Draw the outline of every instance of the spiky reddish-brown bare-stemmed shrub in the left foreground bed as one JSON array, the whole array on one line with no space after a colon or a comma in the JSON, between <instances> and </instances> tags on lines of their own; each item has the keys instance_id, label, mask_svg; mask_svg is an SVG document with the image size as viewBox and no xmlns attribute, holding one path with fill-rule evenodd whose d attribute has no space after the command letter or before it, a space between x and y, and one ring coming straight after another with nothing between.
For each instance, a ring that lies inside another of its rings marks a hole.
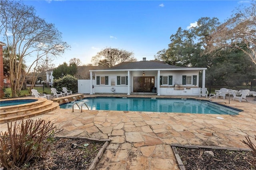
<instances>
[{"instance_id":1,"label":"spiky reddish-brown bare-stemmed shrub in the left foreground bed","mask_svg":"<svg viewBox=\"0 0 256 170\"><path fill-rule=\"evenodd\" d=\"M0 163L6 169L24 168L48 152L54 135L60 133L50 121L28 119L7 124L0 135Z\"/></svg>"}]
</instances>

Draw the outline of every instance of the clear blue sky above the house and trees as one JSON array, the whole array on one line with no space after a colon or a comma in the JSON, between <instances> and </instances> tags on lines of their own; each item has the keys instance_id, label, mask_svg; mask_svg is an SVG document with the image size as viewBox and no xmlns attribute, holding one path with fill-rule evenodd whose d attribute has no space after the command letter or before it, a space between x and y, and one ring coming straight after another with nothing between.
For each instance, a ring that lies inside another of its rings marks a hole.
<instances>
[{"instance_id":1,"label":"clear blue sky above the house and trees","mask_svg":"<svg viewBox=\"0 0 256 170\"><path fill-rule=\"evenodd\" d=\"M167 49L179 27L189 29L202 17L220 22L241 4L238 0L25 0L36 15L53 23L70 49L54 59L55 66L78 58L82 64L106 47L134 53L138 61ZM29 59L27 59L29 63Z\"/></svg>"}]
</instances>

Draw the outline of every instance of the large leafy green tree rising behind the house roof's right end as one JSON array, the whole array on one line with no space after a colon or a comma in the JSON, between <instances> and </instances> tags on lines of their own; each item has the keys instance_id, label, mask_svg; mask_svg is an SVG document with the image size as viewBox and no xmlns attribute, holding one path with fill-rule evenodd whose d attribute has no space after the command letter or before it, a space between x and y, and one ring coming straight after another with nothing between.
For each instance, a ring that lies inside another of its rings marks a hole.
<instances>
[{"instance_id":1,"label":"large leafy green tree rising behind the house roof's right end","mask_svg":"<svg viewBox=\"0 0 256 170\"><path fill-rule=\"evenodd\" d=\"M212 33L219 24L217 18L204 17L197 21L197 26L189 30L179 27L170 36L168 49L158 51L155 58L176 66L209 67L211 57L202 52L212 46Z\"/></svg>"}]
</instances>

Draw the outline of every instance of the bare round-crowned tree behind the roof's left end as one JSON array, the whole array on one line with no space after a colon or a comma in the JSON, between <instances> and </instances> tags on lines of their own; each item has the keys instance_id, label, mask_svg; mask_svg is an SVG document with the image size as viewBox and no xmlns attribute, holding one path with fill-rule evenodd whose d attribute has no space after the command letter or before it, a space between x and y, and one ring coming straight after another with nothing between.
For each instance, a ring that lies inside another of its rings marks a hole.
<instances>
[{"instance_id":1,"label":"bare round-crowned tree behind the roof's left end","mask_svg":"<svg viewBox=\"0 0 256 170\"><path fill-rule=\"evenodd\" d=\"M134 53L123 49L107 47L92 57L92 63L94 65L112 67L122 62L137 61L133 55Z\"/></svg>"}]
</instances>

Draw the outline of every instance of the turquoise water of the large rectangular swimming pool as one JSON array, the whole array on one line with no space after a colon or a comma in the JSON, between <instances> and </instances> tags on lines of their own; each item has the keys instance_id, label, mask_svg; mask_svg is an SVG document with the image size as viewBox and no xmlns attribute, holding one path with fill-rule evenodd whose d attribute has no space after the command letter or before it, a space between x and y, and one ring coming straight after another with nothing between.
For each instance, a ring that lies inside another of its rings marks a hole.
<instances>
[{"instance_id":1,"label":"turquoise water of the large rectangular swimming pool","mask_svg":"<svg viewBox=\"0 0 256 170\"><path fill-rule=\"evenodd\" d=\"M151 98L85 98L77 101L78 106L83 102L90 110L117 111L153 111L174 113L202 113L238 115L242 110L234 109L204 100L194 99L151 99ZM60 108L72 109L73 103L61 105ZM78 109L74 105L74 109ZM87 109L83 105L83 109Z\"/></svg>"}]
</instances>

